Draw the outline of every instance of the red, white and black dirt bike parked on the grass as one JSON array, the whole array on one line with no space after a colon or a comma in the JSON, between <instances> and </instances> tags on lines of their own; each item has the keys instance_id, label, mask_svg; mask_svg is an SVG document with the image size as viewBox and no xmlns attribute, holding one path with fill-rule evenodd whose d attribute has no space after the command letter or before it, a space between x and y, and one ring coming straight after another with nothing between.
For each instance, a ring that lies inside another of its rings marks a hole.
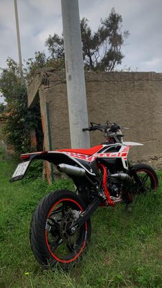
<instances>
[{"instance_id":1,"label":"red, white and black dirt bike parked on the grass","mask_svg":"<svg viewBox=\"0 0 162 288\"><path fill-rule=\"evenodd\" d=\"M56 190L38 204L30 225L32 252L41 265L65 268L76 263L91 237L91 215L99 206L132 202L135 195L156 190L158 177L146 164L132 165L128 159L131 146L123 142L116 123L95 124L83 131L102 131L106 142L89 149L62 149L21 155L11 181L22 179L34 159L44 159L66 173L76 192Z\"/></svg>"}]
</instances>

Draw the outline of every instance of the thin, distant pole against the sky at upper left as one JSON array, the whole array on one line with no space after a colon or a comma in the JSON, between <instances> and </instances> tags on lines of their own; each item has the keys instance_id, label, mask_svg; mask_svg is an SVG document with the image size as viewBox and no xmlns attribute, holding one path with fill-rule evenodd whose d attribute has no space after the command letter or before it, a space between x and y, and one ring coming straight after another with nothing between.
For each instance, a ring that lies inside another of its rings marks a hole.
<instances>
[{"instance_id":1,"label":"thin, distant pole against the sky at upper left","mask_svg":"<svg viewBox=\"0 0 162 288\"><path fill-rule=\"evenodd\" d=\"M22 58L21 58L21 42L20 42L20 32L19 32L19 18L18 18L18 12L17 12L17 0L14 0L14 12L15 12L15 19L16 19L16 34L17 34L17 46L18 46L18 53L19 53L19 68L21 72L21 86L23 86L24 78L23 78Z\"/></svg>"}]
</instances>

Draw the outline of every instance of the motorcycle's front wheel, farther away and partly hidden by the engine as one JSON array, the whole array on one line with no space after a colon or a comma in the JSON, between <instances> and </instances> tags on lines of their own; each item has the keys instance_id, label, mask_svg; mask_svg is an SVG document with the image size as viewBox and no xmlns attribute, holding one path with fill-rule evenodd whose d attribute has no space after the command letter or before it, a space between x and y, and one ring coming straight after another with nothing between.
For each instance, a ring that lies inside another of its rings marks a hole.
<instances>
[{"instance_id":1,"label":"motorcycle's front wheel, farther away and partly hidden by the engine","mask_svg":"<svg viewBox=\"0 0 162 288\"><path fill-rule=\"evenodd\" d=\"M131 177L130 184L126 187L124 200L126 203L132 203L137 195L146 194L152 190L157 190L159 180L157 173L152 167L146 164L137 164L129 173Z\"/></svg>"}]
</instances>

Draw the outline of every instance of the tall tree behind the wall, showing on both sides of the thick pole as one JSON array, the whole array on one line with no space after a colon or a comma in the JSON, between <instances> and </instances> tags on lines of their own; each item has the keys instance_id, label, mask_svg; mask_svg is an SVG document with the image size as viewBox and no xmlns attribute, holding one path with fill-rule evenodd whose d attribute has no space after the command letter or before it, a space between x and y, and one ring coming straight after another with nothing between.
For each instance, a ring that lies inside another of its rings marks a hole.
<instances>
[{"instance_id":1,"label":"tall tree behind the wall, showing on both sides of the thick pole","mask_svg":"<svg viewBox=\"0 0 162 288\"><path fill-rule=\"evenodd\" d=\"M80 21L84 67L87 70L114 71L122 63L122 45L129 32L122 32L122 16L113 8L96 32L91 31L88 19ZM45 41L53 60L65 59L63 38L54 34ZM49 59L48 59L49 60Z\"/></svg>"}]
</instances>

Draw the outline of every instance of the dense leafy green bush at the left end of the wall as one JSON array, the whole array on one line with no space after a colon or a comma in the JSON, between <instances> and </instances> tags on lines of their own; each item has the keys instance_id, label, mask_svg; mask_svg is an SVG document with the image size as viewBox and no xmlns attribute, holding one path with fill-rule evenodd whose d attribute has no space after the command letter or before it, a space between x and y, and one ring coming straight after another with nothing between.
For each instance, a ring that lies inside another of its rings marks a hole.
<instances>
[{"instance_id":1,"label":"dense leafy green bush at the left end of the wall","mask_svg":"<svg viewBox=\"0 0 162 288\"><path fill-rule=\"evenodd\" d=\"M1 93L7 102L3 113L3 134L7 144L13 145L16 151L30 151L30 129L40 126L38 105L27 109L27 89L21 87L19 66L8 58L8 67L1 69Z\"/></svg>"}]
</instances>

